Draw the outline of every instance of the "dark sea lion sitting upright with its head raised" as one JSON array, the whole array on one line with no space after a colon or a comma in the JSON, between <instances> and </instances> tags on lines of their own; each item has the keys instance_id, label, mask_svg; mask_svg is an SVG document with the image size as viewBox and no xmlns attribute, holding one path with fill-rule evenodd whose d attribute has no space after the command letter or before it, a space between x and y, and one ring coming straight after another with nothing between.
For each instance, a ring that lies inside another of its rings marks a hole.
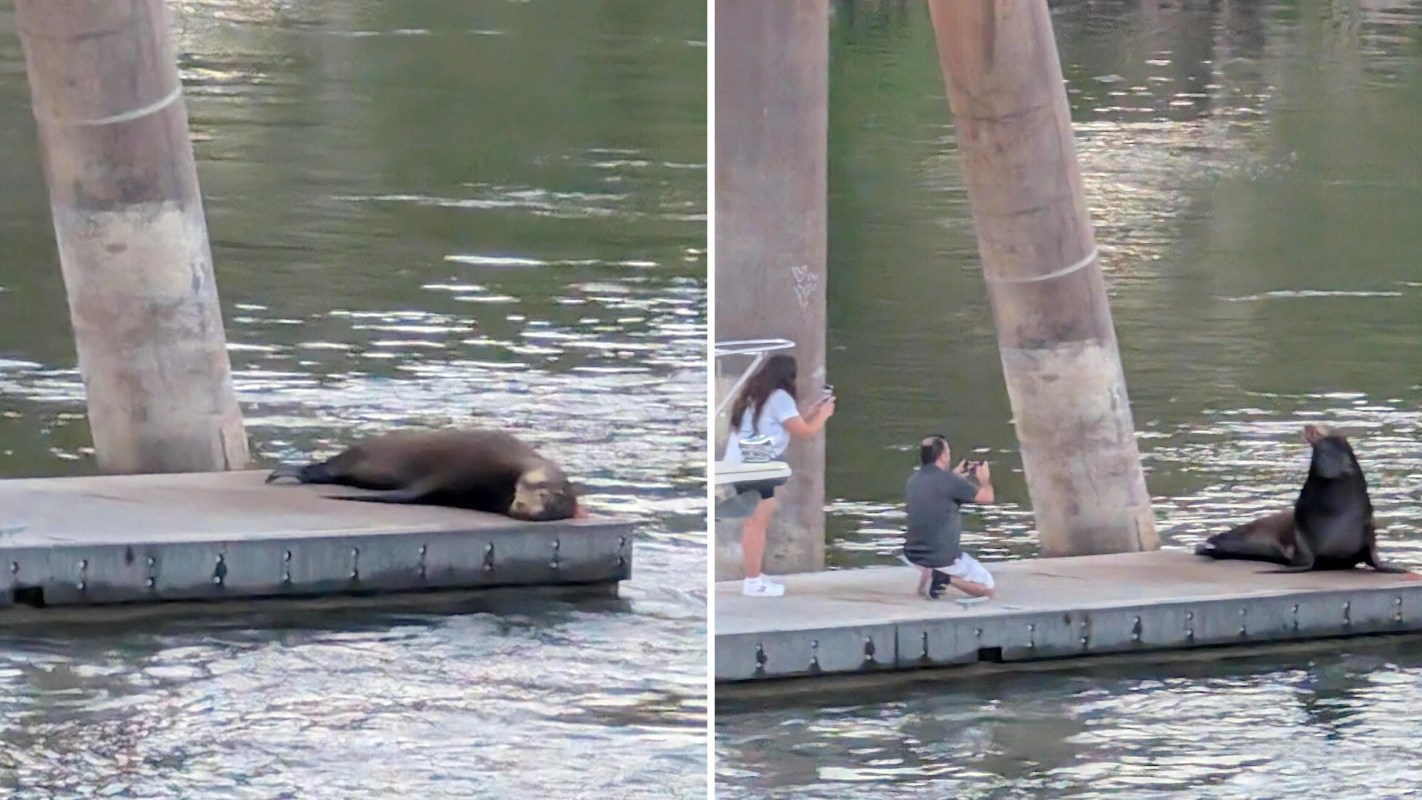
<instances>
[{"instance_id":1,"label":"dark sea lion sitting upright with its head raised","mask_svg":"<svg viewBox=\"0 0 1422 800\"><path fill-rule=\"evenodd\" d=\"M1294 507L1214 534L1194 553L1283 564L1268 570L1274 573L1351 570L1358 564L1379 573L1409 573L1378 557L1368 482L1348 439L1325 425L1308 423L1304 442L1313 456Z\"/></svg>"}]
</instances>

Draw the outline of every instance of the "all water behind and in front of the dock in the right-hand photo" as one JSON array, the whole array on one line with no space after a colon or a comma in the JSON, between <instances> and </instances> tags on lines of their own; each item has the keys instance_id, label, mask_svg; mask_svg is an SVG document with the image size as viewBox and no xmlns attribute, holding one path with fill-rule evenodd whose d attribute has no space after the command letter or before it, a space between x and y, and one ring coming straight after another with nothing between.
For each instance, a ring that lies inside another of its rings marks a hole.
<instances>
[{"instance_id":1,"label":"all water behind and in front of the dock in the right-hand photo","mask_svg":"<svg viewBox=\"0 0 1422 800\"><path fill-rule=\"evenodd\" d=\"M926 9L833 7L829 561L896 563L912 448L940 429L994 463L966 544L1035 556ZM1327 419L1382 550L1422 566L1422 3L1052 9L1165 544L1291 502L1301 425ZM1355 649L744 705L717 718L720 794L1416 791L1422 649Z\"/></svg>"}]
</instances>

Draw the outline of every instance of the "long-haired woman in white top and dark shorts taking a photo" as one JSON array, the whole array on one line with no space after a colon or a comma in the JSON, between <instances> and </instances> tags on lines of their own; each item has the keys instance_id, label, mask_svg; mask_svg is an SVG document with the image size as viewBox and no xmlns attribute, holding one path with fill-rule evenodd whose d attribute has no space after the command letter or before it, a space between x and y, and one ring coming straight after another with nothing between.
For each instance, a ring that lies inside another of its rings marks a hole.
<instances>
[{"instance_id":1,"label":"long-haired woman in white top and dark shorts taking a photo","mask_svg":"<svg viewBox=\"0 0 1422 800\"><path fill-rule=\"evenodd\" d=\"M795 358L772 355L745 382L741 395L731 406L731 436L725 446L725 460L741 462L741 439L769 436L774 459L785 452L791 436L808 439L825 426L835 413L835 398L825 396L811 404L805 416L795 406ZM741 593L748 597L779 597L785 594L782 584L761 574L765 560L765 529L775 513L775 486L766 483L737 483L735 490L758 492L761 494L755 510L741 526L741 564L745 568L745 583Z\"/></svg>"}]
</instances>

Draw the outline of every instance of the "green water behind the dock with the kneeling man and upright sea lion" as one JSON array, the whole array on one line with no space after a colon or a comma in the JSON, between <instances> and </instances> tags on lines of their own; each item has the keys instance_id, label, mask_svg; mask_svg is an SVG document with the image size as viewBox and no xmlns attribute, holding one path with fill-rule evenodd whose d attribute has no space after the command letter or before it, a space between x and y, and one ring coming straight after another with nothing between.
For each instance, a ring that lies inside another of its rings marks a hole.
<instances>
[{"instance_id":1,"label":"green water behind the dock with the kneeling man and upright sea lion","mask_svg":"<svg viewBox=\"0 0 1422 800\"><path fill-rule=\"evenodd\" d=\"M1416 11L1150 6L1064 3L1054 20L1160 531L1193 544L1285 497L1301 423L1324 418L1422 558ZM830 560L889 557L914 448L939 429L995 466L974 546L1032 554L927 13L860 3L850 26L836 7Z\"/></svg>"}]
</instances>

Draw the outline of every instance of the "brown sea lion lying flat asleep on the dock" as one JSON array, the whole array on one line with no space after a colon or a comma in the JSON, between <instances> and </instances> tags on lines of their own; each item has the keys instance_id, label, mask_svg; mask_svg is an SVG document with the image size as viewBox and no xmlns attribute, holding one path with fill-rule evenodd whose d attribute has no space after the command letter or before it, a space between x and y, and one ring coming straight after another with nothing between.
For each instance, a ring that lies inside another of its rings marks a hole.
<instances>
[{"instance_id":1,"label":"brown sea lion lying flat asleep on the dock","mask_svg":"<svg viewBox=\"0 0 1422 800\"><path fill-rule=\"evenodd\" d=\"M563 469L502 431L391 431L323 462L279 465L266 482L282 477L380 492L338 500L452 506L528 521L587 516Z\"/></svg>"}]
</instances>

